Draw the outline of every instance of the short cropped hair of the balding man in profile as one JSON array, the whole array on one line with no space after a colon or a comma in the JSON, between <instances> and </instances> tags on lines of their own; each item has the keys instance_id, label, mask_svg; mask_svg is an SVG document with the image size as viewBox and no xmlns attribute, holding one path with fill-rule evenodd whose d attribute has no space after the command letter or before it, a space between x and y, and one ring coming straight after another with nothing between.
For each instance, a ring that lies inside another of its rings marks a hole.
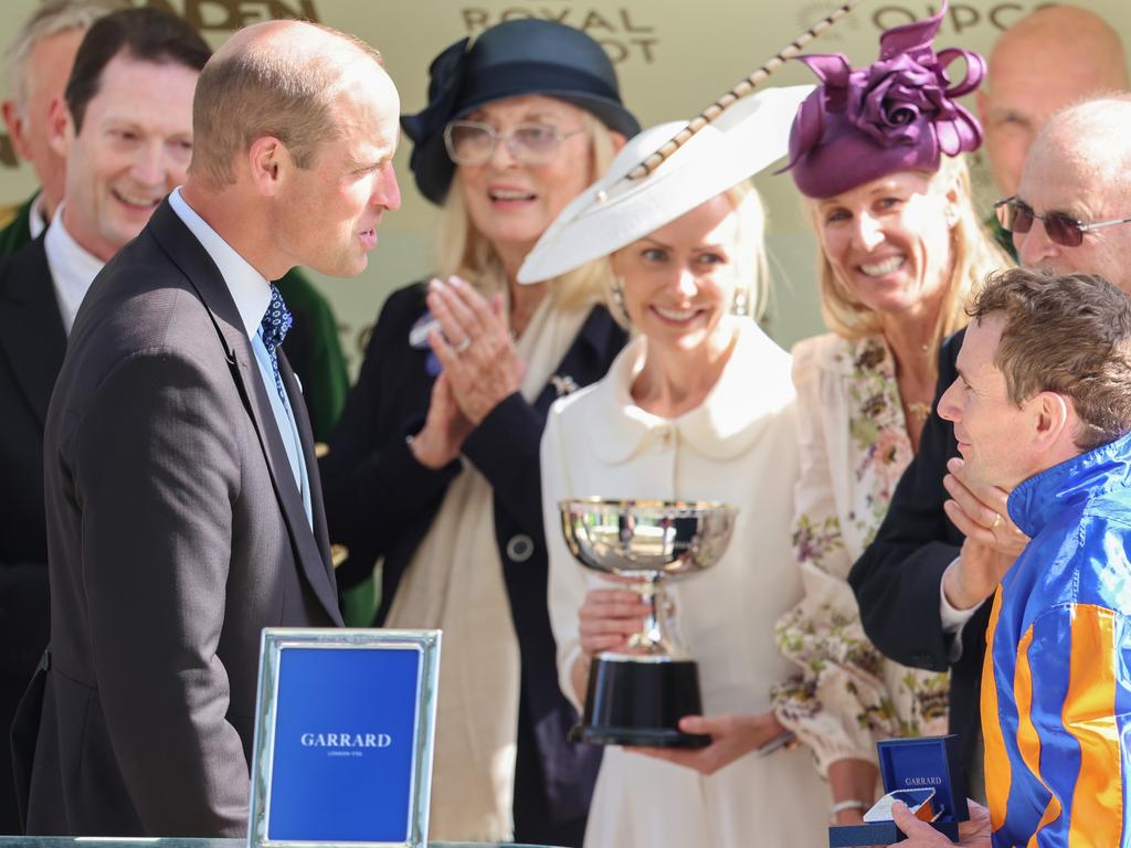
<instances>
[{"instance_id":1,"label":"short cropped hair of the balding man in profile","mask_svg":"<svg viewBox=\"0 0 1131 848\"><path fill-rule=\"evenodd\" d=\"M363 41L305 25L383 67L381 54ZM197 83L189 172L215 187L231 185L236 158L265 136L282 141L300 168L312 167L319 148L339 137L334 104L347 66L329 55L296 62L287 51L267 49L217 53Z\"/></svg>"}]
</instances>

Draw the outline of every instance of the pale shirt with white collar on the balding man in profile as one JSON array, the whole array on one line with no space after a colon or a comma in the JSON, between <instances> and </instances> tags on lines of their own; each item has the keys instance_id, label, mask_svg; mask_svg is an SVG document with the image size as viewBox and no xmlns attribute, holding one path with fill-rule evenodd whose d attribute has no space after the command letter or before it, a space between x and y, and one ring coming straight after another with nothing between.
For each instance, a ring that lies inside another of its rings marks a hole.
<instances>
[{"instance_id":1,"label":"pale shirt with white collar on the balding man in profile","mask_svg":"<svg viewBox=\"0 0 1131 848\"><path fill-rule=\"evenodd\" d=\"M184 226L197 237L201 246L216 263L221 276L227 284L235 301L235 308L240 312L243 321L243 329L251 340L251 349L256 354L256 362L259 365L259 375L267 389L267 397L271 401L271 412L275 414L275 424L279 429L283 438L283 447L286 449L287 459L291 462L291 471L294 474L295 485L302 494L302 505L307 510L307 520L313 527L313 511L310 503L310 478L307 474L305 455L302 450L302 441L299 438L299 426L294 421L294 410L291 404L284 404L275 387L275 372L271 366L270 354L264 344L260 325L264 315L267 314L267 306L271 302L271 288L267 279L257 271L247 259L241 257L235 249L213 230L208 222L201 218L196 210L181 197L181 190L174 189L169 196L169 205L173 211L184 223ZM299 403L302 403L300 399ZM282 481L280 481L282 483Z\"/></svg>"}]
</instances>

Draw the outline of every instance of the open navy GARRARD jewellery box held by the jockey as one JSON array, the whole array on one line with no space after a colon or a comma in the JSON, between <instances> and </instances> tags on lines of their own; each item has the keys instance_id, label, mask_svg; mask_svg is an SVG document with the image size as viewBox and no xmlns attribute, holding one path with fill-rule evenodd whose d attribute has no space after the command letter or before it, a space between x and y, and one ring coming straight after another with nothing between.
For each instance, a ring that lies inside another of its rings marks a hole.
<instances>
[{"instance_id":1,"label":"open navy GARRARD jewellery box held by the jockey","mask_svg":"<svg viewBox=\"0 0 1131 848\"><path fill-rule=\"evenodd\" d=\"M958 823L970 817L958 737L884 739L875 747L887 795L864 814L864 824L829 828L829 848L891 845L906 839L891 821L895 801L907 804L918 819L957 842Z\"/></svg>"}]
</instances>

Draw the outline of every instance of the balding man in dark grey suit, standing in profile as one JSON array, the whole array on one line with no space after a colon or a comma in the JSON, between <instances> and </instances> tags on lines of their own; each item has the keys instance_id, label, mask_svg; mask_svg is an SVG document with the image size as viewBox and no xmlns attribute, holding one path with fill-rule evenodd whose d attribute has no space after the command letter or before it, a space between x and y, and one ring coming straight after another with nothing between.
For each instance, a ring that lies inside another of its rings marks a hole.
<instances>
[{"instance_id":1,"label":"balding man in dark grey suit, standing in profile","mask_svg":"<svg viewBox=\"0 0 1131 848\"><path fill-rule=\"evenodd\" d=\"M268 280L365 267L400 202L399 105L348 36L238 33L200 75L188 181L84 301L45 434L28 832L245 832L260 631L340 623Z\"/></svg>"}]
</instances>

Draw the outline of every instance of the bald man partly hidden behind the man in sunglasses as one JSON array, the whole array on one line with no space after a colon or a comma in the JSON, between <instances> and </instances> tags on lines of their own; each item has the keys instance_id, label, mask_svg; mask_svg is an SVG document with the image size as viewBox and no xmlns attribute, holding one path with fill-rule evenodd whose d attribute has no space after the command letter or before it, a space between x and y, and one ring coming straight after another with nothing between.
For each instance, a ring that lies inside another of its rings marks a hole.
<instances>
[{"instance_id":1,"label":"bald man partly hidden behind the man in sunglasses","mask_svg":"<svg viewBox=\"0 0 1131 848\"><path fill-rule=\"evenodd\" d=\"M977 94L986 153L1002 197L1017 193L1029 145L1053 112L1126 87L1123 42L1095 12L1046 7L1007 29L994 44Z\"/></svg>"}]
</instances>

